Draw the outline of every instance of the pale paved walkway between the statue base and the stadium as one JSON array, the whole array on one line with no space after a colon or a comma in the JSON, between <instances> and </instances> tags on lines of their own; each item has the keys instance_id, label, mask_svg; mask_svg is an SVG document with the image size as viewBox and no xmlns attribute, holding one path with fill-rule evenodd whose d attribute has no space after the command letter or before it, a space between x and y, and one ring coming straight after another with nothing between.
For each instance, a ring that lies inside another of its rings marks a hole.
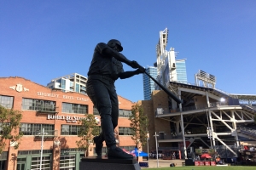
<instances>
[{"instance_id":1,"label":"pale paved walkway between the statue base and the stadium","mask_svg":"<svg viewBox=\"0 0 256 170\"><path fill-rule=\"evenodd\" d=\"M143 161L147 162L147 161ZM185 160L158 160L158 167L170 167L171 163L174 163L176 167L182 167L182 162L185 162ZM156 159L149 159L148 160L148 167L157 167L157 160ZM142 167L143 168L143 167Z\"/></svg>"}]
</instances>

